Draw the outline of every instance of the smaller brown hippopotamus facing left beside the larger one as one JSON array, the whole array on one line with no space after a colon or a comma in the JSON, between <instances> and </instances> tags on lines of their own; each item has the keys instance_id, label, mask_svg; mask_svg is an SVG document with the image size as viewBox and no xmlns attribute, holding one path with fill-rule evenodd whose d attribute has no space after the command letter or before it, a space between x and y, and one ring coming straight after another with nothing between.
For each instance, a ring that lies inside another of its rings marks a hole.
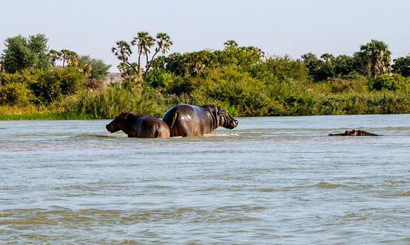
<instances>
[{"instance_id":1,"label":"smaller brown hippopotamus facing left beside the larger one","mask_svg":"<svg viewBox=\"0 0 410 245\"><path fill-rule=\"evenodd\" d=\"M134 112L122 112L105 129L111 133L122 130L129 138L170 137L170 129L165 121Z\"/></svg>"}]
</instances>

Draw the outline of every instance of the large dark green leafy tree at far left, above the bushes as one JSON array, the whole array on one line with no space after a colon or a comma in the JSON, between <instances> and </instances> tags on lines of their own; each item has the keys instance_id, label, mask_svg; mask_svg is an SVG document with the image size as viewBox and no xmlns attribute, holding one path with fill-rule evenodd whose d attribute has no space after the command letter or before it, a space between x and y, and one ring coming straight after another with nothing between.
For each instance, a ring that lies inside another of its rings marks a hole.
<instances>
[{"instance_id":1,"label":"large dark green leafy tree at far left, above the bushes","mask_svg":"<svg viewBox=\"0 0 410 245\"><path fill-rule=\"evenodd\" d=\"M47 38L43 34L8 37L4 49L4 70L15 73L25 68L49 68Z\"/></svg>"}]
</instances>

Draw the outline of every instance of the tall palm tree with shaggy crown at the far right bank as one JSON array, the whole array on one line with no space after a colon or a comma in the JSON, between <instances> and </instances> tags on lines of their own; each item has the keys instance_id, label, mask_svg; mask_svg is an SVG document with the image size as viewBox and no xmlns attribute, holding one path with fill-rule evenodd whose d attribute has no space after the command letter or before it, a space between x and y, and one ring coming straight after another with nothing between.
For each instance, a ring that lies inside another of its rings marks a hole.
<instances>
[{"instance_id":1,"label":"tall palm tree with shaggy crown at the far right bank","mask_svg":"<svg viewBox=\"0 0 410 245\"><path fill-rule=\"evenodd\" d=\"M373 78L390 72L391 52L382 41L371 40L361 45L360 51L355 54L361 60L362 66Z\"/></svg>"}]
</instances>

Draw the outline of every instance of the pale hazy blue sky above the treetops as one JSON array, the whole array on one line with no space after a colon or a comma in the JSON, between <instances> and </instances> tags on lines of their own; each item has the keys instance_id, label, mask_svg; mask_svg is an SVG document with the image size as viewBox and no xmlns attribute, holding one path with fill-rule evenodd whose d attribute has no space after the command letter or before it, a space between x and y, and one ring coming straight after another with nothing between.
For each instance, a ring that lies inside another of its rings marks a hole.
<instances>
[{"instance_id":1,"label":"pale hazy blue sky above the treetops","mask_svg":"<svg viewBox=\"0 0 410 245\"><path fill-rule=\"evenodd\" d=\"M118 63L111 47L139 31L168 33L170 52L222 49L236 40L271 55L338 55L376 39L397 57L410 54L410 1L0 1L0 40L44 33L51 49L102 59L111 71Z\"/></svg>"}]
</instances>

